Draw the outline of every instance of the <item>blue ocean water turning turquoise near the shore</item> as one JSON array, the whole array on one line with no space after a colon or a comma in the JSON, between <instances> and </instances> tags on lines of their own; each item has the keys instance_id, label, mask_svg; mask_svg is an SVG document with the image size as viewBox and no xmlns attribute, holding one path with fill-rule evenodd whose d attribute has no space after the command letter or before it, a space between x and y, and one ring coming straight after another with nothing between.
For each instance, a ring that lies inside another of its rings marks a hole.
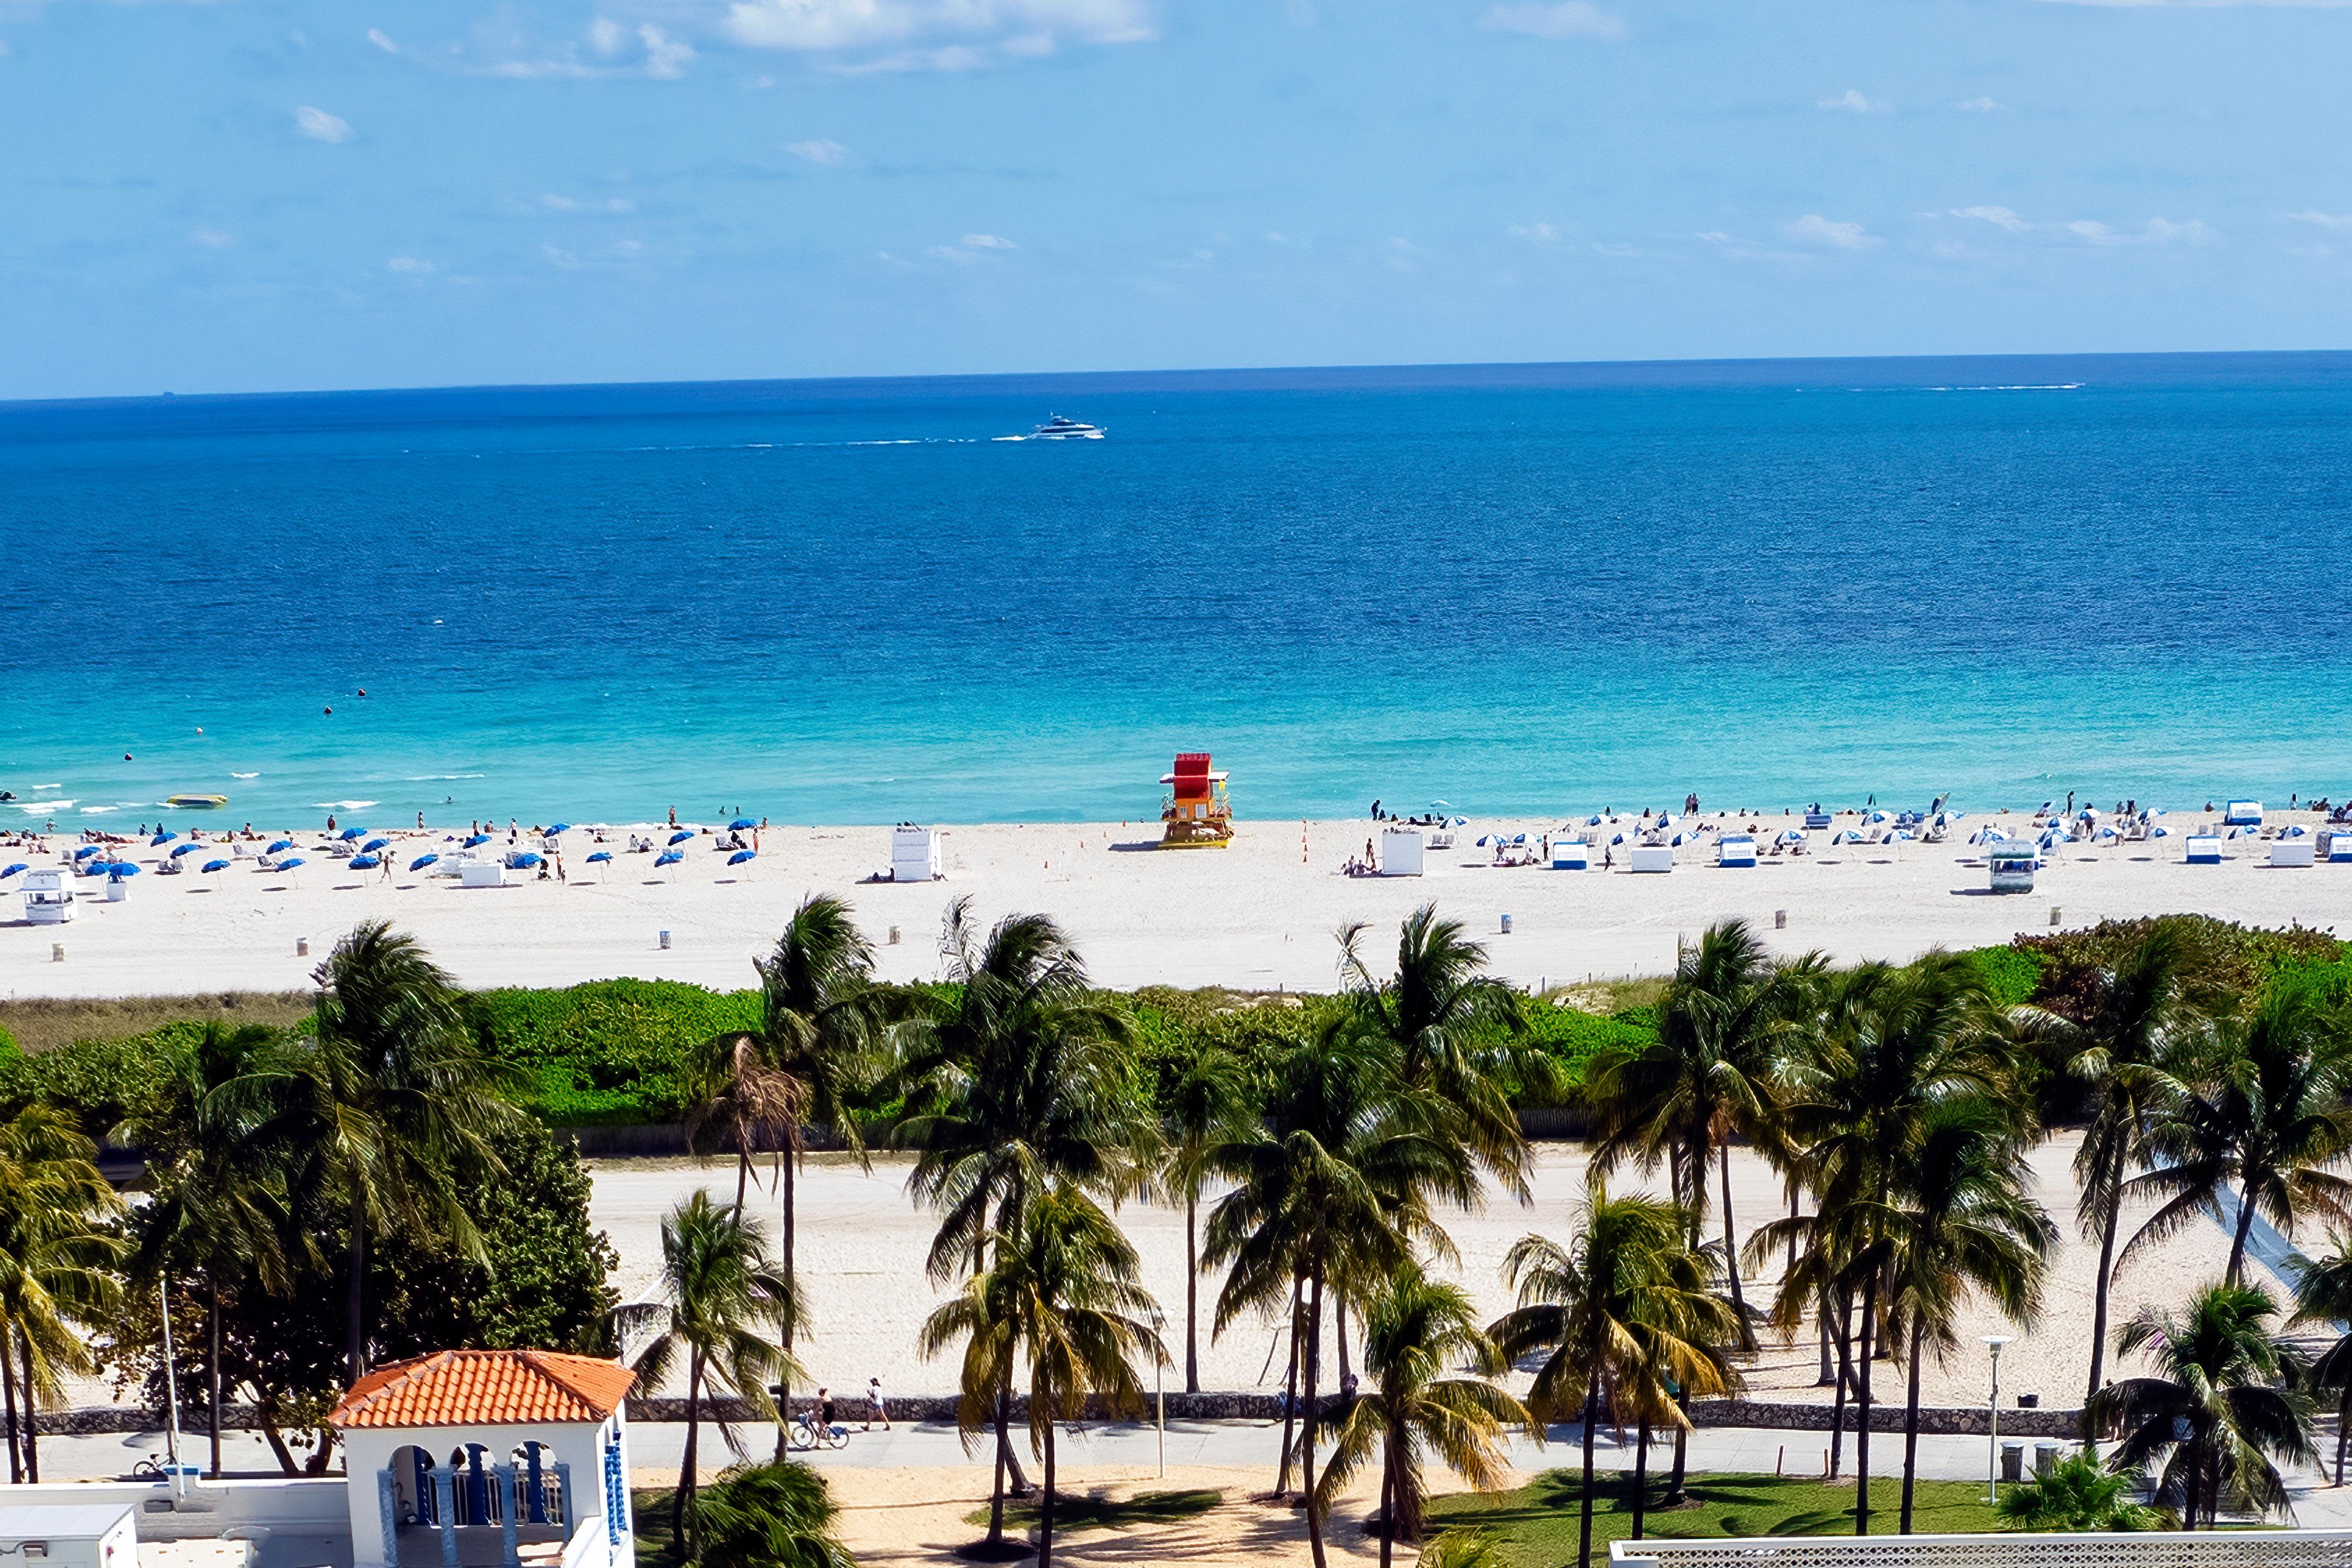
<instances>
[{"instance_id":1,"label":"blue ocean water turning turquoise near the shore","mask_svg":"<svg viewBox=\"0 0 2352 1568\"><path fill-rule=\"evenodd\" d=\"M1110 440L990 440L1047 411ZM0 404L0 788L1117 820L1209 748L1263 818L2340 797L2347 520L2352 355Z\"/></svg>"}]
</instances>

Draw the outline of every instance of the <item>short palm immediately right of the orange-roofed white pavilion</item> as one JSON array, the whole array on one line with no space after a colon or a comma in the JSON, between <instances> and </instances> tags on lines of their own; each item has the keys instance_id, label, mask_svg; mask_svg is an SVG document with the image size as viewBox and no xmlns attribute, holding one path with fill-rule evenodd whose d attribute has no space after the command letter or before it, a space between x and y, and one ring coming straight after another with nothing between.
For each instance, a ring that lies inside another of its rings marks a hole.
<instances>
[{"instance_id":1,"label":"short palm immediately right of the orange-roofed white pavilion","mask_svg":"<svg viewBox=\"0 0 2352 1568\"><path fill-rule=\"evenodd\" d=\"M710 1201L708 1187L699 1187L661 1220L659 1291L659 1300L614 1307L612 1326L623 1342L630 1333L654 1333L630 1361L637 1387L647 1394L668 1380L680 1354L687 1359L687 1455L670 1495L670 1533L691 1552L703 1389L731 1394L753 1415L774 1420L767 1385L797 1378L800 1368L767 1333L786 1331L797 1302L790 1281L767 1255L767 1229ZM720 1436L741 1455L734 1422L724 1415L717 1420Z\"/></svg>"}]
</instances>

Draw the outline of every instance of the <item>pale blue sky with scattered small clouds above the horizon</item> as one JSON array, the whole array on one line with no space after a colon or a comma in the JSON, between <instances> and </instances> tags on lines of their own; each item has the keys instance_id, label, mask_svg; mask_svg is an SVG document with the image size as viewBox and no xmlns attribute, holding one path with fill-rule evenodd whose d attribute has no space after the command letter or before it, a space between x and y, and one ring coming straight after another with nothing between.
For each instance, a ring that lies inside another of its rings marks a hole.
<instances>
[{"instance_id":1,"label":"pale blue sky with scattered small clouds above the horizon","mask_svg":"<svg viewBox=\"0 0 2352 1568\"><path fill-rule=\"evenodd\" d=\"M0 0L0 397L2352 343L2352 9Z\"/></svg>"}]
</instances>

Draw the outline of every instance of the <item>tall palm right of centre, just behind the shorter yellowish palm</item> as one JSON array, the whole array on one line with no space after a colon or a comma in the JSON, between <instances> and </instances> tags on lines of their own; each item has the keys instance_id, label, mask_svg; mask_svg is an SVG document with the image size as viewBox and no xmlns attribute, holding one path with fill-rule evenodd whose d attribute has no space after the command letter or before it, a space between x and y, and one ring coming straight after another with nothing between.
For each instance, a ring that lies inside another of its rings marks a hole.
<instances>
[{"instance_id":1,"label":"tall palm right of centre, just behind the shorter yellowish palm","mask_svg":"<svg viewBox=\"0 0 2352 1568\"><path fill-rule=\"evenodd\" d=\"M1691 1218L1693 1246L1708 1215L1708 1171L1719 1159L1726 1260L1740 1255L1731 1140L1769 1143L1778 1056L1813 1006L1818 983L1818 954L1776 964L1745 919L1717 922L1675 959L1656 1041L1611 1053L1592 1074L1595 1164L1613 1171L1635 1159L1653 1171L1665 1159L1677 1175L1672 1197ZM1729 1269L1729 1284L1740 1349L1755 1349L1738 1267Z\"/></svg>"}]
</instances>

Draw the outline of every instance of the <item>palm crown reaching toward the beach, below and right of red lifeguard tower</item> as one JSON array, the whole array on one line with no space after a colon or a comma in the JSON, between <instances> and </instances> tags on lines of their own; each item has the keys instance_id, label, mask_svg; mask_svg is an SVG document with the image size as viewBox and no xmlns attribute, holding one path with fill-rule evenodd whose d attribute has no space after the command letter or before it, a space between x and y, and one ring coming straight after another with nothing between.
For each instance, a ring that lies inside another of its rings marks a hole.
<instances>
[{"instance_id":1,"label":"palm crown reaching toward the beach, below and right of red lifeguard tower","mask_svg":"<svg viewBox=\"0 0 2352 1568\"><path fill-rule=\"evenodd\" d=\"M1425 903L1397 931L1397 976L1381 980L1362 954L1367 926L1338 933L1341 976L1364 1030L1395 1051L1397 1079L1435 1095L1456 1138L1526 1201L1526 1135L1512 1093L1559 1088L1552 1058L1519 1030L1519 992L1486 973L1486 947Z\"/></svg>"}]
</instances>

